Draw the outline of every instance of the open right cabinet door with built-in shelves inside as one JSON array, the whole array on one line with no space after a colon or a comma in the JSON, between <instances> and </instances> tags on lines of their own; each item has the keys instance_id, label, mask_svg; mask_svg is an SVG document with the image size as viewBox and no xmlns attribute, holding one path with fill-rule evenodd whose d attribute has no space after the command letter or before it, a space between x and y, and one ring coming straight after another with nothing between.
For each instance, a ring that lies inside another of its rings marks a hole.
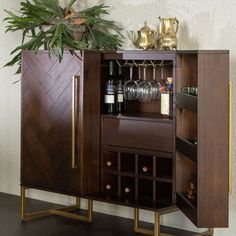
<instances>
[{"instance_id":1,"label":"open right cabinet door with built-in shelves inside","mask_svg":"<svg viewBox=\"0 0 236 236\"><path fill-rule=\"evenodd\" d=\"M228 51L179 53L176 76L176 206L197 227L227 227Z\"/></svg>"}]
</instances>

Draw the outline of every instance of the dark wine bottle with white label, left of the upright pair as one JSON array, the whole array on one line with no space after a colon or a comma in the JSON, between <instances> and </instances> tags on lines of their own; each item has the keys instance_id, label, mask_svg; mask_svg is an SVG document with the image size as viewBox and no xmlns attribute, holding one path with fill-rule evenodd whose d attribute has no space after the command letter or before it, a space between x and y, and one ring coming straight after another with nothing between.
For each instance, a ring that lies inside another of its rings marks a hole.
<instances>
[{"instance_id":1,"label":"dark wine bottle with white label, left of the upright pair","mask_svg":"<svg viewBox=\"0 0 236 236\"><path fill-rule=\"evenodd\" d=\"M105 113L114 114L116 113L116 103L115 103L115 75L114 75L114 62L109 62L109 76L105 82L105 94L104 94L104 107Z\"/></svg>"}]
</instances>

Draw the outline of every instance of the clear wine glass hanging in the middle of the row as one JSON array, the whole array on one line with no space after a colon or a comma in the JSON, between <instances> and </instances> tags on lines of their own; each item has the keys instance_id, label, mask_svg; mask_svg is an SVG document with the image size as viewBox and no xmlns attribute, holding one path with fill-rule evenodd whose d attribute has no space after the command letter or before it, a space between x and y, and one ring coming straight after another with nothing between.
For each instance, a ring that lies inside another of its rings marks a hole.
<instances>
[{"instance_id":1,"label":"clear wine glass hanging in the middle of the row","mask_svg":"<svg viewBox=\"0 0 236 236\"><path fill-rule=\"evenodd\" d=\"M150 102L152 98L152 85L147 81L146 78L147 65L144 66L143 70L143 81L138 87L138 100L139 102Z\"/></svg>"}]
</instances>

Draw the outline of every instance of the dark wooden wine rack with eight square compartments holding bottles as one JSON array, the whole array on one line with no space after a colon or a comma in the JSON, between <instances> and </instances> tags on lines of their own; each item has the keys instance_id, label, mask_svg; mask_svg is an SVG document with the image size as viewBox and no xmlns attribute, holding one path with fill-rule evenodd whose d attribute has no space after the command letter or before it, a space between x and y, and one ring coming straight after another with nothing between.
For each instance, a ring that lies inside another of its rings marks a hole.
<instances>
[{"instance_id":1,"label":"dark wooden wine rack with eight square compartments holding bottles","mask_svg":"<svg viewBox=\"0 0 236 236\"><path fill-rule=\"evenodd\" d=\"M104 146L101 155L101 192L107 196L120 197L126 203L144 201L150 205L155 202L171 202L172 155L160 152L147 155L144 152ZM113 170L107 167L108 161L116 163Z\"/></svg>"}]
</instances>

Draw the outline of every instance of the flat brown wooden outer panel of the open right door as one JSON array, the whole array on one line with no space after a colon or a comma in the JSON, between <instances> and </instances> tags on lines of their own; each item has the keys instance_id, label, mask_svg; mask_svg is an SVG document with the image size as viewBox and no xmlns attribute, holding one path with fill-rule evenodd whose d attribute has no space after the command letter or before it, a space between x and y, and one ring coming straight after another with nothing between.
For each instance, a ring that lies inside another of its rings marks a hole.
<instances>
[{"instance_id":1,"label":"flat brown wooden outer panel of the open right door","mask_svg":"<svg viewBox=\"0 0 236 236\"><path fill-rule=\"evenodd\" d=\"M228 226L229 55L198 59L198 227Z\"/></svg>"}]
</instances>

